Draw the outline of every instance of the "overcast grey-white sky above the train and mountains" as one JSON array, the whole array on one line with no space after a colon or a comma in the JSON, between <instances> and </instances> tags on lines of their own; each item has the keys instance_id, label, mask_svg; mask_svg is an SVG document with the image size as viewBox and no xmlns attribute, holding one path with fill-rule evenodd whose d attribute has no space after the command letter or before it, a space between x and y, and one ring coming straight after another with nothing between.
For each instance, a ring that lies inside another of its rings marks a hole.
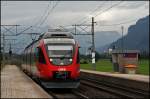
<instances>
[{"instance_id":1,"label":"overcast grey-white sky above the train and mountains","mask_svg":"<svg viewBox=\"0 0 150 99\"><path fill-rule=\"evenodd\" d=\"M126 34L130 25L147 15L149 1L1 1L1 24L34 25L33 31L44 26L69 29L74 24L91 24L91 17L96 16L95 31L121 33L123 25ZM112 25L120 23L124 24ZM90 32L91 27L86 29Z\"/></svg>"}]
</instances>

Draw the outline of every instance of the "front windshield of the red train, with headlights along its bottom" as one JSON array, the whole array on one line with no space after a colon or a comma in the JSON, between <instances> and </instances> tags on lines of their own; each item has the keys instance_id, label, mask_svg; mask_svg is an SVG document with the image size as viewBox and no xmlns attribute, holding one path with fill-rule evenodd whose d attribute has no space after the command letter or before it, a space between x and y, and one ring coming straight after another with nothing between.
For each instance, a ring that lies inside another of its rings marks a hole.
<instances>
[{"instance_id":1,"label":"front windshield of the red train, with headlights along its bottom","mask_svg":"<svg viewBox=\"0 0 150 99\"><path fill-rule=\"evenodd\" d=\"M48 56L54 65L69 65L73 58L73 45L48 45Z\"/></svg>"}]
</instances>

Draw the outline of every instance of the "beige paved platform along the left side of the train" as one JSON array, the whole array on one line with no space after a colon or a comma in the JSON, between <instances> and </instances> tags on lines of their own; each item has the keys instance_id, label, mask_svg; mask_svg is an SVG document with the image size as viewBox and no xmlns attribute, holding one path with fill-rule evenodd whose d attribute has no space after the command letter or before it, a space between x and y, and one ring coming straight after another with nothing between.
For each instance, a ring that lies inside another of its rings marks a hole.
<instances>
[{"instance_id":1,"label":"beige paved platform along the left side of the train","mask_svg":"<svg viewBox=\"0 0 150 99\"><path fill-rule=\"evenodd\" d=\"M52 98L15 65L1 71L1 98Z\"/></svg>"}]
</instances>

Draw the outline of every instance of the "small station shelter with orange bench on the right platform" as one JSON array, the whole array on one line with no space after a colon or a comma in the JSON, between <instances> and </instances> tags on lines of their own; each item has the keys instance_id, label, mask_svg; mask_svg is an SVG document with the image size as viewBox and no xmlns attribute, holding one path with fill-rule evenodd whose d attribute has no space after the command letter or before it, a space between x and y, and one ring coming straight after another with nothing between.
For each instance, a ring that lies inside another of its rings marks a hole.
<instances>
[{"instance_id":1,"label":"small station shelter with orange bench on the right platform","mask_svg":"<svg viewBox=\"0 0 150 99\"><path fill-rule=\"evenodd\" d=\"M114 71L135 74L138 67L138 50L112 50Z\"/></svg>"}]
</instances>

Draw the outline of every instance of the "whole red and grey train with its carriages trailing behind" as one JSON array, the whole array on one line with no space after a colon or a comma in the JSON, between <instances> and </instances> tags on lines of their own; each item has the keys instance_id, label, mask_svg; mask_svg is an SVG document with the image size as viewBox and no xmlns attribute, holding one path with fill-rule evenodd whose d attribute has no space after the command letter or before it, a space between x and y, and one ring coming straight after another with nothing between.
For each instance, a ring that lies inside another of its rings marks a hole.
<instances>
[{"instance_id":1,"label":"whole red and grey train with its carriages trailing behind","mask_svg":"<svg viewBox=\"0 0 150 99\"><path fill-rule=\"evenodd\" d=\"M73 36L51 31L25 48L22 69L48 88L77 88L79 61L79 46Z\"/></svg>"}]
</instances>

